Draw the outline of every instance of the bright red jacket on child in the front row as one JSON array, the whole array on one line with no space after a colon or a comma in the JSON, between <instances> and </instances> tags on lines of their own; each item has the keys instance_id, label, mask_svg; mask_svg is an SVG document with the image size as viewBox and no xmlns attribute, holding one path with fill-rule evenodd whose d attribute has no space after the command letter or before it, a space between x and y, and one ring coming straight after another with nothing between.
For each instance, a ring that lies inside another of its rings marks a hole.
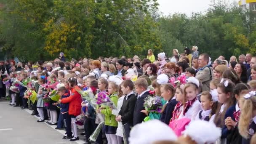
<instances>
[{"instance_id":1,"label":"bright red jacket on child in the front row","mask_svg":"<svg viewBox=\"0 0 256 144\"><path fill-rule=\"evenodd\" d=\"M71 89L70 96L64 99L61 99L61 103L66 104L69 103L69 115L80 115L81 114L81 95L76 91L80 90L78 86L75 86Z\"/></svg>"}]
</instances>

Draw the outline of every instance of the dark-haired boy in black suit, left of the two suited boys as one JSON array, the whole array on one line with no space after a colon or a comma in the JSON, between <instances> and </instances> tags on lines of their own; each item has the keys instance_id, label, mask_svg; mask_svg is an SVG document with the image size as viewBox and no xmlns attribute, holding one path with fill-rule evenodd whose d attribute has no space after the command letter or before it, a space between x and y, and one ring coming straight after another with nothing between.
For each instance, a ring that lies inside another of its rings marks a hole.
<instances>
[{"instance_id":1,"label":"dark-haired boy in black suit, left of the two suited boys","mask_svg":"<svg viewBox=\"0 0 256 144\"><path fill-rule=\"evenodd\" d=\"M133 87L134 85L131 80L124 80L121 83L121 91L125 97L119 115L116 117L116 121L122 121L123 123L126 138L130 136L131 126L133 125L133 112L137 101L137 98L133 93Z\"/></svg>"}]
</instances>

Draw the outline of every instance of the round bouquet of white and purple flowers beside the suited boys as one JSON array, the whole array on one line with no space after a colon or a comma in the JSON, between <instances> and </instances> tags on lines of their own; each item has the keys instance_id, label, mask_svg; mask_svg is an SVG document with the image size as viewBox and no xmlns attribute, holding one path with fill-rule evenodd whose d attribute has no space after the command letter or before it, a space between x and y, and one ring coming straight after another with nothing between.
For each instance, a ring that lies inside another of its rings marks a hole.
<instances>
[{"instance_id":1,"label":"round bouquet of white and purple flowers beside the suited boys","mask_svg":"<svg viewBox=\"0 0 256 144\"><path fill-rule=\"evenodd\" d=\"M160 113L162 110L162 102L160 96L147 96L144 99L144 107L148 112Z\"/></svg>"}]
</instances>

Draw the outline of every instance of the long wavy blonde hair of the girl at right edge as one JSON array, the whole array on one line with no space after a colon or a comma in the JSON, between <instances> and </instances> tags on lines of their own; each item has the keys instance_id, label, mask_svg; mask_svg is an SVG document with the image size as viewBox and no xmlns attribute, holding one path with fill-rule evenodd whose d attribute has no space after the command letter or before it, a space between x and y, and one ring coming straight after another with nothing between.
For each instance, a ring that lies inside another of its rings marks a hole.
<instances>
[{"instance_id":1,"label":"long wavy blonde hair of the girl at right edge","mask_svg":"<svg viewBox=\"0 0 256 144\"><path fill-rule=\"evenodd\" d=\"M251 96L248 99L240 99L241 115L238 123L238 129L241 136L245 139L249 137L248 129L253 118L253 111L256 110L256 96Z\"/></svg>"}]
</instances>

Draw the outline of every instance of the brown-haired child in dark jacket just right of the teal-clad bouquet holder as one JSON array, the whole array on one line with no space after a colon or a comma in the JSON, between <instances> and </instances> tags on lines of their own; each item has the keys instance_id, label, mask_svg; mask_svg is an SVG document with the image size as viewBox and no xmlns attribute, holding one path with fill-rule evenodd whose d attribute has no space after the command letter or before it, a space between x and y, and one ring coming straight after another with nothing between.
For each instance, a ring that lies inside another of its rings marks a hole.
<instances>
[{"instance_id":1,"label":"brown-haired child in dark jacket just right of the teal-clad bouquet holder","mask_svg":"<svg viewBox=\"0 0 256 144\"><path fill-rule=\"evenodd\" d=\"M163 123L168 125L171 120L174 107L176 106L178 101L176 101L176 97L174 96L173 85L171 85L171 84L161 85L160 92L161 92L161 96L163 97L163 99L165 99L165 101L167 101L165 103L165 105L163 106L162 115L160 117L160 120Z\"/></svg>"}]
</instances>

